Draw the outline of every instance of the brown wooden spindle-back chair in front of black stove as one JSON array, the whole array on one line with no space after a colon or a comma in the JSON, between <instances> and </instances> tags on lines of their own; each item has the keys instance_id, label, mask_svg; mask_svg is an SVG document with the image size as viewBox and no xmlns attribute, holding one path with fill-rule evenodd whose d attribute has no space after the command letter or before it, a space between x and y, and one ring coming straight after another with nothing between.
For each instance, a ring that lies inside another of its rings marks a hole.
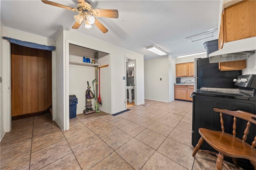
<instances>
[{"instance_id":1,"label":"brown wooden spindle-back chair in front of black stove","mask_svg":"<svg viewBox=\"0 0 256 170\"><path fill-rule=\"evenodd\" d=\"M205 151L210 154L215 154L218 157L216 161L217 170L222 169L222 166L224 164L224 155L231 157L236 167L238 167L236 158L248 159L256 170L256 136L254 137L252 145L249 145L245 142L249 133L250 123L256 124L256 115L241 110L230 111L227 109L218 108L214 108L213 110L220 113L220 124L222 131L212 131L210 129L199 128L198 131L201 135L201 138L199 139L192 156L196 155L202 143L206 141L212 148L218 151L218 153ZM233 135L224 132L224 121L222 118L222 113L234 116ZM246 124L246 129L244 130L242 140L236 137L236 117L248 121L248 123ZM224 164L224 166L226 166L226 164Z\"/></svg>"}]
</instances>

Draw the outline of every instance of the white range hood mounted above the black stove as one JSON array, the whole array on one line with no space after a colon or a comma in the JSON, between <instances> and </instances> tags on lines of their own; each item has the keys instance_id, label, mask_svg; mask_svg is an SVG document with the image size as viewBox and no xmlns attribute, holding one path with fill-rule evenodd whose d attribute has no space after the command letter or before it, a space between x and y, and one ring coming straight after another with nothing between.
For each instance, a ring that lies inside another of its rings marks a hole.
<instances>
[{"instance_id":1,"label":"white range hood mounted above the black stove","mask_svg":"<svg viewBox=\"0 0 256 170\"><path fill-rule=\"evenodd\" d=\"M246 60L256 51L256 37L224 43L223 48L209 54L209 63Z\"/></svg>"}]
</instances>

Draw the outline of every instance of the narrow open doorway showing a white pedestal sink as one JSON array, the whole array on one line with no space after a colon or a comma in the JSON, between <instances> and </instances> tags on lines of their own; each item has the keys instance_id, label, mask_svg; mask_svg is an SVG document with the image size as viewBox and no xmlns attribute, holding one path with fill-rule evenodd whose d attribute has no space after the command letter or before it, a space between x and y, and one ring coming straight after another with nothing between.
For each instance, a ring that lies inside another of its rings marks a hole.
<instances>
[{"instance_id":1,"label":"narrow open doorway showing a white pedestal sink","mask_svg":"<svg viewBox=\"0 0 256 170\"><path fill-rule=\"evenodd\" d=\"M135 60L126 58L126 107L135 105Z\"/></svg>"}]
</instances>

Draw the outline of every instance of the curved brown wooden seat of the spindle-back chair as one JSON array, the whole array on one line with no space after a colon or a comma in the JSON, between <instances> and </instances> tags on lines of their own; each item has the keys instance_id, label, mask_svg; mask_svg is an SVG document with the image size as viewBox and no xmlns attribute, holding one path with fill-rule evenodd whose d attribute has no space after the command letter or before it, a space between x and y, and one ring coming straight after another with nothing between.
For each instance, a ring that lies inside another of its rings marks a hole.
<instances>
[{"instance_id":1,"label":"curved brown wooden seat of the spindle-back chair","mask_svg":"<svg viewBox=\"0 0 256 170\"><path fill-rule=\"evenodd\" d=\"M202 138L218 152L234 158L245 158L256 161L256 149L246 142L228 133L199 128Z\"/></svg>"}]
</instances>

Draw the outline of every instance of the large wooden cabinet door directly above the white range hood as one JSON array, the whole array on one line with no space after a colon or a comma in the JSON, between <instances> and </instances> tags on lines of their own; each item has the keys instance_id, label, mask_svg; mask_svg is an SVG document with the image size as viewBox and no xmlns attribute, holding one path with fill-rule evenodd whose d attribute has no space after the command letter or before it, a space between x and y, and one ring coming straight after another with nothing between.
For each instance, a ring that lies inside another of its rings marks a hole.
<instances>
[{"instance_id":1,"label":"large wooden cabinet door directly above the white range hood","mask_svg":"<svg viewBox=\"0 0 256 170\"><path fill-rule=\"evenodd\" d=\"M225 42L256 36L256 1L242 1L224 12Z\"/></svg>"}]
</instances>

